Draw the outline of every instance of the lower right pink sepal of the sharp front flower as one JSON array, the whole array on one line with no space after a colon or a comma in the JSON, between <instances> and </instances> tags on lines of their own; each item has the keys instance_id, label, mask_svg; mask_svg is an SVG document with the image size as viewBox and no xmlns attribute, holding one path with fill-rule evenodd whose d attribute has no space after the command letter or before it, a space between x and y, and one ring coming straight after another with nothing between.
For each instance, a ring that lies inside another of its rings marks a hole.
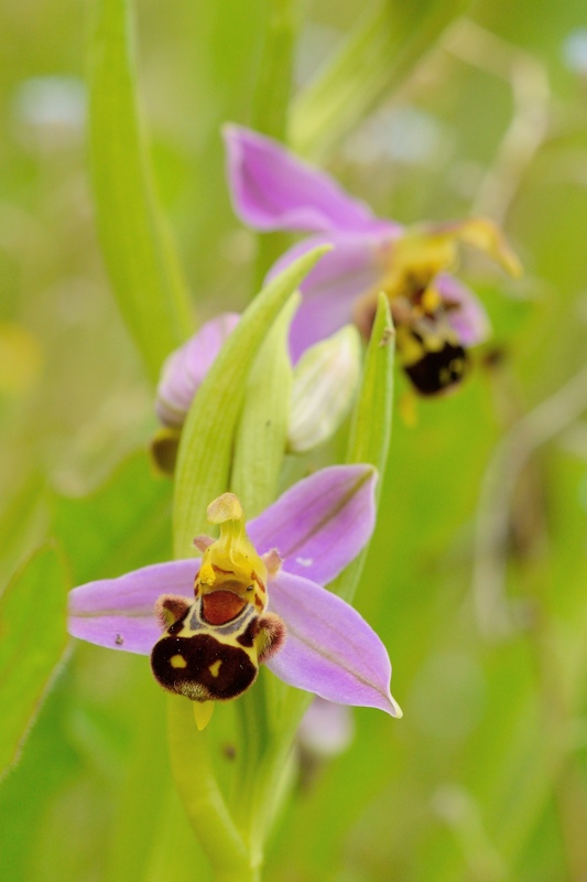
<instances>
[{"instance_id":1,"label":"lower right pink sepal of the sharp front flower","mask_svg":"<svg viewBox=\"0 0 587 882\"><path fill-rule=\"evenodd\" d=\"M282 572L271 585L271 607L287 627L283 648L268 663L278 677L328 701L401 716L389 689L388 652L352 606Z\"/></svg>"}]
</instances>

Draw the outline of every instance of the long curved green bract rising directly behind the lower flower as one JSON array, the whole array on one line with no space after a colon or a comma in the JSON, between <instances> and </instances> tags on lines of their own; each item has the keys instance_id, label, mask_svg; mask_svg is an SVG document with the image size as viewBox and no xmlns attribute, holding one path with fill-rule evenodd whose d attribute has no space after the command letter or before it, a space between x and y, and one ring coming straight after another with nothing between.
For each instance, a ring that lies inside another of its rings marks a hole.
<instances>
[{"instance_id":1,"label":"long curved green bract rising directly behind the lower flower","mask_svg":"<svg viewBox=\"0 0 587 882\"><path fill-rule=\"evenodd\" d=\"M328 250L329 246L322 246L307 251L269 282L242 315L194 398L175 472L176 557L189 555L194 536L208 528L208 504L228 488L236 424L263 338L287 298Z\"/></svg>"}]
</instances>

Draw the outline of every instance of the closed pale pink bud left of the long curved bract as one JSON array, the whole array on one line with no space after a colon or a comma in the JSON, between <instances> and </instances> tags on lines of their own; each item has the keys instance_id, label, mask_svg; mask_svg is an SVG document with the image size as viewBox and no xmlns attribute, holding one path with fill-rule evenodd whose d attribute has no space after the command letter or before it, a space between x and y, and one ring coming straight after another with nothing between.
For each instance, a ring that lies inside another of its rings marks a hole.
<instances>
[{"instance_id":1,"label":"closed pale pink bud left of the long curved bract","mask_svg":"<svg viewBox=\"0 0 587 882\"><path fill-rule=\"evenodd\" d=\"M155 401L156 415L164 426L183 426L194 395L239 320L236 312L220 313L165 361Z\"/></svg>"}]
</instances>

